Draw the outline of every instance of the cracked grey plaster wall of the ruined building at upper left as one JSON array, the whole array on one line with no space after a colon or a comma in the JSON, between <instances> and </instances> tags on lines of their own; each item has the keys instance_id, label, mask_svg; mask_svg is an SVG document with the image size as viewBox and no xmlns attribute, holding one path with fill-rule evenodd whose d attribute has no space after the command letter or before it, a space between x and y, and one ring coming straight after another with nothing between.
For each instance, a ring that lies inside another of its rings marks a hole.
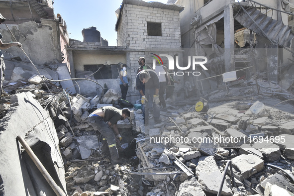
<instances>
[{"instance_id":1,"label":"cracked grey plaster wall of the ruined building at upper left","mask_svg":"<svg viewBox=\"0 0 294 196\"><path fill-rule=\"evenodd\" d=\"M59 24L57 20L41 19L41 23L24 22L10 25L9 29L35 65L61 63ZM15 41L4 24L0 24L3 43ZM23 51L17 47L2 50L4 59L20 57L29 62Z\"/></svg>"}]
</instances>

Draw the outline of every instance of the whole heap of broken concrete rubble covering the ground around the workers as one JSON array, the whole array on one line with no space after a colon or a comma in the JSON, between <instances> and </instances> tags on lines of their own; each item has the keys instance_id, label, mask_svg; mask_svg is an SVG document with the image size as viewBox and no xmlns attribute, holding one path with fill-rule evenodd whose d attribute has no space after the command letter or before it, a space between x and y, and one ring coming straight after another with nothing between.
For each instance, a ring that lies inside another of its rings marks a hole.
<instances>
[{"instance_id":1,"label":"whole heap of broken concrete rubble covering the ground around the workers","mask_svg":"<svg viewBox=\"0 0 294 196\"><path fill-rule=\"evenodd\" d=\"M53 85L49 93L42 82L36 85L38 91L31 91L28 83L21 92L36 99L54 121L70 196L217 195L228 160L232 171L229 167L221 195L294 195L294 106L281 103L281 96L256 96L256 85L248 81L243 81L242 89L230 87L229 94L218 90L206 95L207 113L194 111L198 98L168 102L160 124L152 124L151 115L150 124L144 126L140 109L132 111L130 119L117 124L123 138L128 138L119 147L120 156L126 158L123 165L111 165L109 157L101 155L101 138L87 121L89 113L103 102L66 94ZM241 97L249 89L251 93ZM113 95L112 100L119 96ZM25 104L14 97L1 100L0 120L10 116L18 104ZM222 100L224 97L231 101ZM254 113L256 101L263 104Z\"/></svg>"}]
</instances>

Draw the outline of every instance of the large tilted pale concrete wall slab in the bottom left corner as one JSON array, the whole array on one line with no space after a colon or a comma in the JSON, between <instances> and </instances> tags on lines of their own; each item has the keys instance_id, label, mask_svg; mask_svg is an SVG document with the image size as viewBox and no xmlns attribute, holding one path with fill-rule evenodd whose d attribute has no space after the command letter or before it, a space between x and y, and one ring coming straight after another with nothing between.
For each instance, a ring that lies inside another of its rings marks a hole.
<instances>
[{"instance_id":1,"label":"large tilted pale concrete wall slab in the bottom left corner","mask_svg":"<svg viewBox=\"0 0 294 196\"><path fill-rule=\"evenodd\" d=\"M0 176L5 196L37 196L41 192L55 195L34 164L28 164L31 160L21 153L17 136L26 140L57 185L65 190L64 164L54 123L33 95L12 96L10 108L0 124Z\"/></svg>"}]
</instances>

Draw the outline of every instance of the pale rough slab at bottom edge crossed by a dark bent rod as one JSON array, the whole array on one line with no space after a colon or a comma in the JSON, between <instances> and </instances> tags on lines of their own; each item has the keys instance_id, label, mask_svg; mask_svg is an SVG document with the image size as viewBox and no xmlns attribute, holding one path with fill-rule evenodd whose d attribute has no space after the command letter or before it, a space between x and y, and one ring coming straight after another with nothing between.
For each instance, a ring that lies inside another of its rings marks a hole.
<instances>
[{"instance_id":1,"label":"pale rough slab at bottom edge crossed by a dark bent rod","mask_svg":"<svg viewBox=\"0 0 294 196\"><path fill-rule=\"evenodd\" d=\"M219 171L213 156L200 157L196 167L196 176L205 192L217 194L223 175ZM230 185L225 181L221 195L232 196Z\"/></svg>"}]
</instances>

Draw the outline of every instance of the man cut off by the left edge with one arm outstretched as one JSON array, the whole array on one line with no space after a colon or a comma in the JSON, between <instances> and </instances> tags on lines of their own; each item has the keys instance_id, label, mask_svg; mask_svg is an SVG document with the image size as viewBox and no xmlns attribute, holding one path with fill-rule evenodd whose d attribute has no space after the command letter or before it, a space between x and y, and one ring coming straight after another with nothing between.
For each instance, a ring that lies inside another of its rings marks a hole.
<instances>
[{"instance_id":1,"label":"man cut off by the left edge with one arm outstretched","mask_svg":"<svg viewBox=\"0 0 294 196\"><path fill-rule=\"evenodd\" d=\"M6 19L0 14L0 24L4 22ZM2 40L2 35L0 33L0 49L7 49L10 48L11 46L19 46L21 47L21 43L19 42L11 42L11 43L3 43ZM0 99L2 95L2 89L3 89L3 81L4 81L4 70L5 70L5 63L3 60L3 54L0 50Z\"/></svg>"}]
</instances>

